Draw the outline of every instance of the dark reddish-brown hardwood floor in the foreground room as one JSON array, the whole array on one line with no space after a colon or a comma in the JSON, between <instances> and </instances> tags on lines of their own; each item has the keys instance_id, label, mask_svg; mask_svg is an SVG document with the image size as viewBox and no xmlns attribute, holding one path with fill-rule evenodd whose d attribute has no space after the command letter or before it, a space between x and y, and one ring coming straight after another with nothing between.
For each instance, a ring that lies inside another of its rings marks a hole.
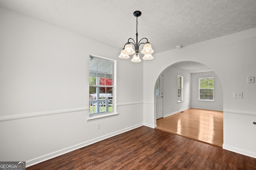
<instances>
[{"instance_id":1,"label":"dark reddish-brown hardwood floor in the foreground room","mask_svg":"<svg viewBox=\"0 0 256 170\"><path fill-rule=\"evenodd\" d=\"M142 126L26 170L256 170L256 159Z\"/></svg>"}]
</instances>

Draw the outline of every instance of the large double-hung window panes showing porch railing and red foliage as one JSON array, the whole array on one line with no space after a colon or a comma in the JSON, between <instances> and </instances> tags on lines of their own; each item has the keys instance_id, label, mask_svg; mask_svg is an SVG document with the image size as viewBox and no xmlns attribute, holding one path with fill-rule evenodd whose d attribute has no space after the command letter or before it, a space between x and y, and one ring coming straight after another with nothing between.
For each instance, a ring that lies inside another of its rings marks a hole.
<instances>
[{"instance_id":1,"label":"large double-hung window panes showing porch railing and red foliage","mask_svg":"<svg viewBox=\"0 0 256 170\"><path fill-rule=\"evenodd\" d=\"M114 61L90 56L89 69L90 116L113 112Z\"/></svg>"}]
</instances>

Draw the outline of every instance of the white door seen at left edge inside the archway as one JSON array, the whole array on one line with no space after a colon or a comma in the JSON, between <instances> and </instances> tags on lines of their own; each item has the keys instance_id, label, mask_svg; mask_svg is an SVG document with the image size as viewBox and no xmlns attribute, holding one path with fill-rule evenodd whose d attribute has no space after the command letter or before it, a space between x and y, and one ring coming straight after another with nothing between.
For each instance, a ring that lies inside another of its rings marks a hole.
<instances>
[{"instance_id":1,"label":"white door seen at left edge inside the archway","mask_svg":"<svg viewBox=\"0 0 256 170\"><path fill-rule=\"evenodd\" d=\"M163 117L163 93L162 93L162 80L161 75L156 84L156 119Z\"/></svg>"}]
</instances>

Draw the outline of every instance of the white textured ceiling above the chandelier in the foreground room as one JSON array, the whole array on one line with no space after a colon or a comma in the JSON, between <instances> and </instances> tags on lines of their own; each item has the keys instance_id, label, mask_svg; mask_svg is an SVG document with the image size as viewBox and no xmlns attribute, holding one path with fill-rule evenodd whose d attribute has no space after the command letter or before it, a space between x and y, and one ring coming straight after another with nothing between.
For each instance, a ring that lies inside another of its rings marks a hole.
<instances>
[{"instance_id":1,"label":"white textured ceiling above the chandelier in the foreground room","mask_svg":"<svg viewBox=\"0 0 256 170\"><path fill-rule=\"evenodd\" d=\"M148 38L154 53L256 27L256 0L0 0L0 6L123 48Z\"/></svg>"}]
</instances>

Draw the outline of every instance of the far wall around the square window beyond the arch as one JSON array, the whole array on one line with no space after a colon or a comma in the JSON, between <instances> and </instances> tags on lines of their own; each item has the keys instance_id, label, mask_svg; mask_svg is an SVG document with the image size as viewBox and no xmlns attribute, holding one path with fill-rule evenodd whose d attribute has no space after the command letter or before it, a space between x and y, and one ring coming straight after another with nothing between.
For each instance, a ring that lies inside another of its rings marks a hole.
<instances>
[{"instance_id":1,"label":"far wall around the square window beyond the arch","mask_svg":"<svg viewBox=\"0 0 256 170\"><path fill-rule=\"evenodd\" d=\"M199 78L214 78L214 102L198 100L199 94ZM191 74L191 107L197 109L208 109L223 111L223 90L220 79L215 72L201 72Z\"/></svg>"}]
</instances>

